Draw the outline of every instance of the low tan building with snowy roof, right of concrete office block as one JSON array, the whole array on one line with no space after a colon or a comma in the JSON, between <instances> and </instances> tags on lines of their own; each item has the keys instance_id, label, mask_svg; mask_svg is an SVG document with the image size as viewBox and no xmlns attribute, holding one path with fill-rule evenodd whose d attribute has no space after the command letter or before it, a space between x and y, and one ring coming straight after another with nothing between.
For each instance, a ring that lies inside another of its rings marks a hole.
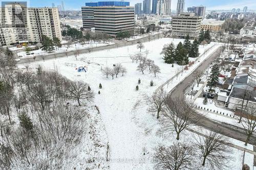
<instances>
[{"instance_id":1,"label":"low tan building with snowy roof, right of concrete office block","mask_svg":"<svg viewBox=\"0 0 256 170\"><path fill-rule=\"evenodd\" d=\"M218 33L222 30L225 21L206 19L201 22L201 29L209 30L210 32Z\"/></svg>"}]
</instances>

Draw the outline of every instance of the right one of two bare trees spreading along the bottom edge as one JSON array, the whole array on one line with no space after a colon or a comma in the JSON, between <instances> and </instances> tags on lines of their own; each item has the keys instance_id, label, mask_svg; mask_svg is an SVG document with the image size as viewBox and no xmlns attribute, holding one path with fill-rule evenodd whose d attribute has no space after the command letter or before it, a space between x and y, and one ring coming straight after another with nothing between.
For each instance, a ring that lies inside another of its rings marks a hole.
<instances>
[{"instance_id":1,"label":"right one of two bare trees spreading along the bottom edge","mask_svg":"<svg viewBox=\"0 0 256 170\"><path fill-rule=\"evenodd\" d=\"M203 159L202 165L209 165L214 169L224 169L230 161L231 149L227 147L228 138L215 133L207 132L204 136L194 137L198 156Z\"/></svg>"}]
</instances>

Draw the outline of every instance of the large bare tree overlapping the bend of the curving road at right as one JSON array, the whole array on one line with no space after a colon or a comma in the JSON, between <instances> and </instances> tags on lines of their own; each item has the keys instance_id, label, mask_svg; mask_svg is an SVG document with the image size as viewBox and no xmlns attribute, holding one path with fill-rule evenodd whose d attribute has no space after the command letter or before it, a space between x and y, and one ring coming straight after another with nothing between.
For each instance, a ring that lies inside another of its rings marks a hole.
<instances>
[{"instance_id":1,"label":"large bare tree overlapping the bend of the curving road at right","mask_svg":"<svg viewBox=\"0 0 256 170\"><path fill-rule=\"evenodd\" d=\"M180 133L198 119L193 114L191 103L178 98L166 102L167 109L162 118L163 132L176 132L176 139L179 140Z\"/></svg>"}]
</instances>

